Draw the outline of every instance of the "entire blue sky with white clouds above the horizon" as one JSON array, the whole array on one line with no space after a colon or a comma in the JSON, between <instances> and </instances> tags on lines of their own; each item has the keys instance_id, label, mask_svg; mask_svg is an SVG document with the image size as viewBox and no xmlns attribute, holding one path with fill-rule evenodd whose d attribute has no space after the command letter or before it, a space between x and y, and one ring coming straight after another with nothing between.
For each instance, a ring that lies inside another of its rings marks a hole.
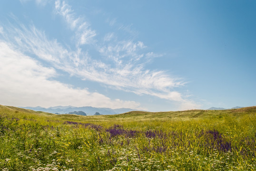
<instances>
[{"instance_id":1,"label":"entire blue sky with white clouds above the horizon","mask_svg":"<svg viewBox=\"0 0 256 171\"><path fill-rule=\"evenodd\" d=\"M0 104L256 105L255 0L1 0Z\"/></svg>"}]
</instances>

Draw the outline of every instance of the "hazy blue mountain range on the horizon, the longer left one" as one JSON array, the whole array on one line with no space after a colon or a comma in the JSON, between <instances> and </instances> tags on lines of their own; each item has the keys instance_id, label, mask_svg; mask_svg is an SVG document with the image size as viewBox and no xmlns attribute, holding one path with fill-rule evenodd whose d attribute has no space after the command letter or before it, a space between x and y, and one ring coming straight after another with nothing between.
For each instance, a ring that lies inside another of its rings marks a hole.
<instances>
[{"instance_id":1,"label":"hazy blue mountain range on the horizon, the longer left one","mask_svg":"<svg viewBox=\"0 0 256 171\"><path fill-rule=\"evenodd\" d=\"M130 111L138 111L136 109L130 108L118 108L118 109L111 109L111 108L104 108L104 107L91 107L91 106L84 106L84 107L74 107L74 106L54 106L49 108L44 108L41 106L37 107L20 107L24 109L30 109L34 111L42 111L48 112L51 114L69 114L69 112L74 111L82 111L86 113L86 115L94 115L96 112L99 114L123 114Z\"/></svg>"}]
</instances>

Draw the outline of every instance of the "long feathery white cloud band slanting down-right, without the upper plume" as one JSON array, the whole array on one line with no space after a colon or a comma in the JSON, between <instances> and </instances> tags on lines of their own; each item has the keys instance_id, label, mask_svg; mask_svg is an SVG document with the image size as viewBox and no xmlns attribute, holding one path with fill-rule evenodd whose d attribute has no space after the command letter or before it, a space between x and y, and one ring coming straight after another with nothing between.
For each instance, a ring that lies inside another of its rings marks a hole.
<instances>
[{"instance_id":1,"label":"long feathery white cloud band slanting down-right, without the upper plume","mask_svg":"<svg viewBox=\"0 0 256 171\"><path fill-rule=\"evenodd\" d=\"M138 50L145 48L145 45L139 41L122 41L116 46L102 47L101 55L115 61L115 65L111 65L90 58L80 48L76 51L67 50L57 40L46 38L44 32L34 26L30 29L23 25L20 28L10 26L7 30L7 35L11 37L5 39L12 42L15 48L24 53L35 54L54 68L82 79L140 95L154 95L174 101L178 98L172 95L170 88L184 85L179 78L170 77L164 71L145 70L143 64L139 63L143 54L138 54Z\"/></svg>"}]
</instances>

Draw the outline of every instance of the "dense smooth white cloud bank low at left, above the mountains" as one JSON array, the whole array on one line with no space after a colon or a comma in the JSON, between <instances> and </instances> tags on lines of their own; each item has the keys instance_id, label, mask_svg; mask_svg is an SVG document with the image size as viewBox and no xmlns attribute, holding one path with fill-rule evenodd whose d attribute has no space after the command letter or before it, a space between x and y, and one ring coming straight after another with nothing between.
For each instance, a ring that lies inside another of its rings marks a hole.
<instances>
[{"instance_id":1,"label":"dense smooth white cloud bank low at left, above the mountains","mask_svg":"<svg viewBox=\"0 0 256 171\"><path fill-rule=\"evenodd\" d=\"M111 100L105 95L51 80L57 74L55 69L41 66L5 42L0 42L0 61L0 104L111 108L138 108L140 105L134 101Z\"/></svg>"}]
</instances>

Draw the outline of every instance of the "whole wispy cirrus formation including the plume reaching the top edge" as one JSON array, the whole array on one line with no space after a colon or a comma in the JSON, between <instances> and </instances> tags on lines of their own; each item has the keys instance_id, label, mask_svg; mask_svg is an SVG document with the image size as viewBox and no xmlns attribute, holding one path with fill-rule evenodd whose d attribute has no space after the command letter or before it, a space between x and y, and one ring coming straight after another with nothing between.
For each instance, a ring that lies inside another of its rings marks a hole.
<instances>
[{"instance_id":1,"label":"whole wispy cirrus formation including the plume reaching the top edge","mask_svg":"<svg viewBox=\"0 0 256 171\"><path fill-rule=\"evenodd\" d=\"M5 26L8 31L2 38L22 53L36 55L53 68L72 76L137 95L152 95L184 105L195 104L174 90L185 84L181 78L170 76L165 71L145 69L149 60L162 55L147 52L141 41L118 40L114 33L106 34L105 41L100 42L97 31L66 1L56 0L54 7L54 13L60 15L73 31L75 49L67 49L58 40L47 38L44 31L34 25ZM85 44L91 45L90 48L98 52L98 57L84 50Z\"/></svg>"}]
</instances>

